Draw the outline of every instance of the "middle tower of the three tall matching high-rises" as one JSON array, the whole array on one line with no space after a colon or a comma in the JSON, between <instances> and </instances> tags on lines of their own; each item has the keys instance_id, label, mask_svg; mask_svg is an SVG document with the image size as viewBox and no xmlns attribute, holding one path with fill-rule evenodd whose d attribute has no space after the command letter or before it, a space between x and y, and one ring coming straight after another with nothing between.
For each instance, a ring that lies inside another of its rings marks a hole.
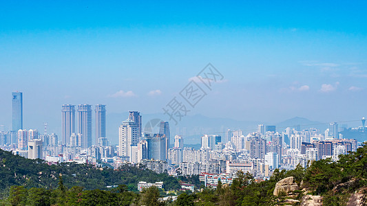
<instances>
[{"instance_id":1,"label":"middle tower of the three tall matching high-rises","mask_svg":"<svg viewBox=\"0 0 367 206\"><path fill-rule=\"evenodd\" d=\"M78 105L78 133L83 135L83 148L92 146L92 107L89 104Z\"/></svg>"}]
</instances>

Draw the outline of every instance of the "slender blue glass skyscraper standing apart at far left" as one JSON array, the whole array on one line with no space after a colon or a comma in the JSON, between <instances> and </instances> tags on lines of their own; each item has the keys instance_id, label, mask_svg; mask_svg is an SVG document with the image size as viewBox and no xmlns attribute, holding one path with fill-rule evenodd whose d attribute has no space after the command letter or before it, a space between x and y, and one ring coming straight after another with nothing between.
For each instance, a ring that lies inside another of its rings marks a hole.
<instances>
[{"instance_id":1,"label":"slender blue glass skyscraper standing apart at far left","mask_svg":"<svg viewBox=\"0 0 367 206\"><path fill-rule=\"evenodd\" d=\"M12 130L23 130L23 93L12 93Z\"/></svg>"}]
</instances>

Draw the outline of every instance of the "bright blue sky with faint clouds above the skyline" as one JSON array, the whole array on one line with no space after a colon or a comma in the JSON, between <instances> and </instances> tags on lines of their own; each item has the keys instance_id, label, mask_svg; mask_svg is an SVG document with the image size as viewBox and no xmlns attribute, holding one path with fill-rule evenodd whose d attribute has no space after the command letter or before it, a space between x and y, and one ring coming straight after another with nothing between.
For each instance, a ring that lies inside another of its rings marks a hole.
<instances>
[{"instance_id":1,"label":"bright blue sky with faint clouds above the skyline","mask_svg":"<svg viewBox=\"0 0 367 206\"><path fill-rule=\"evenodd\" d=\"M192 115L359 119L366 4L1 1L0 124L11 126L12 91L24 93L25 128L61 122L61 104L160 113L209 62L225 81Z\"/></svg>"}]
</instances>

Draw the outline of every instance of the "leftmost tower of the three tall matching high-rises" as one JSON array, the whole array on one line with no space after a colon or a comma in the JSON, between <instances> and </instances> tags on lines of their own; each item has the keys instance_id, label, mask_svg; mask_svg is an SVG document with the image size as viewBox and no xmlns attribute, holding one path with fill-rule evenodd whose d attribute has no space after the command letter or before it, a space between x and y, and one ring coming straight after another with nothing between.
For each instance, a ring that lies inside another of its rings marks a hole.
<instances>
[{"instance_id":1,"label":"leftmost tower of the three tall matching high-rises","mask_svg":"<svg viewBox=\"0 0 367 206\"><path fill-rule=\"evenodd\" d=\"M63 104L61 109L61 141L64 145L70 144L72 133L75 133L75 106Z\"/></svg>"}]
</instances>

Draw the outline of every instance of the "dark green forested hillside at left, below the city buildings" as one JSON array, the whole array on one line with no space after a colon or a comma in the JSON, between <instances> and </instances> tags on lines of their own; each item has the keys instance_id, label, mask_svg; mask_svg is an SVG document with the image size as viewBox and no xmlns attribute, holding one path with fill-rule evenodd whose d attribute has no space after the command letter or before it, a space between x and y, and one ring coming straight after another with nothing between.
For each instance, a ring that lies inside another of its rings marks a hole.
<instances>
[{"instance_id":1,"label":"dark green forested hillside at left, below the city buildings","mask_svg":"<svg viewBox=\"0 0 367 206\"><path fill-rule=\"evenodd\" d=\"M40 159L25 159L0 150L0 192L3 195L8 193L12 185L56 189L59 176L63 177L65 187L79 186L85 190L107 190L108 185L127 185L128 190L137 191L139 181L163 181L165 190L180 189L178 179L145 168L123 165L120 170L113 170L76 163L48 165Z\"/></svg>"}]
</instances>

